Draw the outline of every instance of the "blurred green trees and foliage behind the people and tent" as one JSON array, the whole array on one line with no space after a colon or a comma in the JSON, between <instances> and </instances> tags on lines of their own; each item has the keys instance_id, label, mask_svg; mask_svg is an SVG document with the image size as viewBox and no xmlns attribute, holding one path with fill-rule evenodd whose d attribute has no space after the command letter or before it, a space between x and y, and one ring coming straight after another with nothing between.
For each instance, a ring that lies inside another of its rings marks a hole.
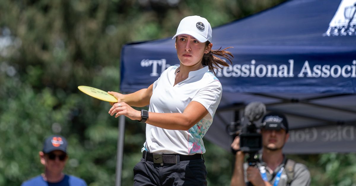
<instances>
[{"instance_id":1,"label":"blurred green trees and foliage behind the people and tent","mask_svg":"<svg viewBox=\"0 0 356 186\"><path fill-rule=\"evenodd\" d=\"M1 0L0 185L43 172L38 152L53 133L69 142L66 173L90 186L114 185L118 121L108 103L77 86L119 91L121 47L170 37L185 16L204 16L215 27L281 1ZM125 130L122 185L132 185L145 126L126 119ZM209 185L229 185L232 154L204 142ZM356 183L354 158L322 154L305 164L314 185L344 186Z\"/></svg>"}]
</instances>

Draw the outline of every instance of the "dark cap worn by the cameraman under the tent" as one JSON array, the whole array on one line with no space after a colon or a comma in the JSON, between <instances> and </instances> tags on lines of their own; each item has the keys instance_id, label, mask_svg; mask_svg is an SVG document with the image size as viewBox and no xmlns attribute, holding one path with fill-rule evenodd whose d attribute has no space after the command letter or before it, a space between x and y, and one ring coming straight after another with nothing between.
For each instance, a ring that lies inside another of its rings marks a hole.
<instances>
[{"instance_id":1,"label":"dark cap worn by the cameraman under the tent","mask_svg":"<svg viewBox=\"0 0 356 186\"><path fill-rule=\"evenodd\" d=\"M284 129L286 133L289 131L287 118L284 114L278 112L271 112L262 118L262 129L279 130Z\"/></svg>"}]
</instances>

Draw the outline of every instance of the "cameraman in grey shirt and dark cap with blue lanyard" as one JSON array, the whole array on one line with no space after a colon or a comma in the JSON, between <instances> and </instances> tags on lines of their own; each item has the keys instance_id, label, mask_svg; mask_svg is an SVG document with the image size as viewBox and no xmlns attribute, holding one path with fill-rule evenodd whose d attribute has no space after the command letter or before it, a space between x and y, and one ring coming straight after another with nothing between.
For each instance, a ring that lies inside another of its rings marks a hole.
<instances>
[{"instance_id":1,"label":"cameraman in grey shirt and dark cap with blue lanyard","mask_svg":"<svg viewBox=\"0 0 356 186\"><path fill-rule=\"evenodd\" d=\"M262 154L257 167L244 163L245 154L240 151L240 137L231 144L236 152L235 168L231 186L308 186L310 172L307 167L293 160L287 160L282 148L289 138L287 118L281 113L269 113L262 118Z\"/></svg>"}]
</instances>

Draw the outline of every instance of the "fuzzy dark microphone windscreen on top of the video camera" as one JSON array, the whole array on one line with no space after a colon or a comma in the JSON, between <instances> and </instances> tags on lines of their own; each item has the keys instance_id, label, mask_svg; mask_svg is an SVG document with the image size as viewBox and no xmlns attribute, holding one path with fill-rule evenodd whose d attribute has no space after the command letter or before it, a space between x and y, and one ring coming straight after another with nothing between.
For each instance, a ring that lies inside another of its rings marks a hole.
<instances>
[{"instance_id":1,"label":"fuzzy dark microphone windscreen on top of the video camera","mask_svg":"<svg viewBox=\"0 0 356 186\"><path fill-rule=\"evenodd\" d=\"M245 107L245 117L248 121L253 122L260 119L266 113L266 105L262 102L251 102Z\"/></svg>"}]
</instances>

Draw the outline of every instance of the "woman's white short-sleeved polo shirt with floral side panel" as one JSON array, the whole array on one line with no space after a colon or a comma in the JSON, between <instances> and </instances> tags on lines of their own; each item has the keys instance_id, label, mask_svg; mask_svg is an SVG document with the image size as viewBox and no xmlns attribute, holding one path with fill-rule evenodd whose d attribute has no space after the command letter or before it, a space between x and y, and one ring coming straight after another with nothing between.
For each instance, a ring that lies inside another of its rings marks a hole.
<instances>
[{"instance_id":1,"label":"woman's white short-sleeved polo shirt with floral side panel","mask_svg":"<svg viewBox=\"0 0 356 186\"><path fill-rule=\"evenodd\" d=\"M143 150L151 153L192 155L205 153L203 137L208 131L218 107L222 88L208 66L189 72L188 78L174 85L177 66L163 71L153 83L150 112L183 113L191 101L203 105L208 114L188 131L169 130L146 124L146 142Z\"/></svg>"}]
</instances>

